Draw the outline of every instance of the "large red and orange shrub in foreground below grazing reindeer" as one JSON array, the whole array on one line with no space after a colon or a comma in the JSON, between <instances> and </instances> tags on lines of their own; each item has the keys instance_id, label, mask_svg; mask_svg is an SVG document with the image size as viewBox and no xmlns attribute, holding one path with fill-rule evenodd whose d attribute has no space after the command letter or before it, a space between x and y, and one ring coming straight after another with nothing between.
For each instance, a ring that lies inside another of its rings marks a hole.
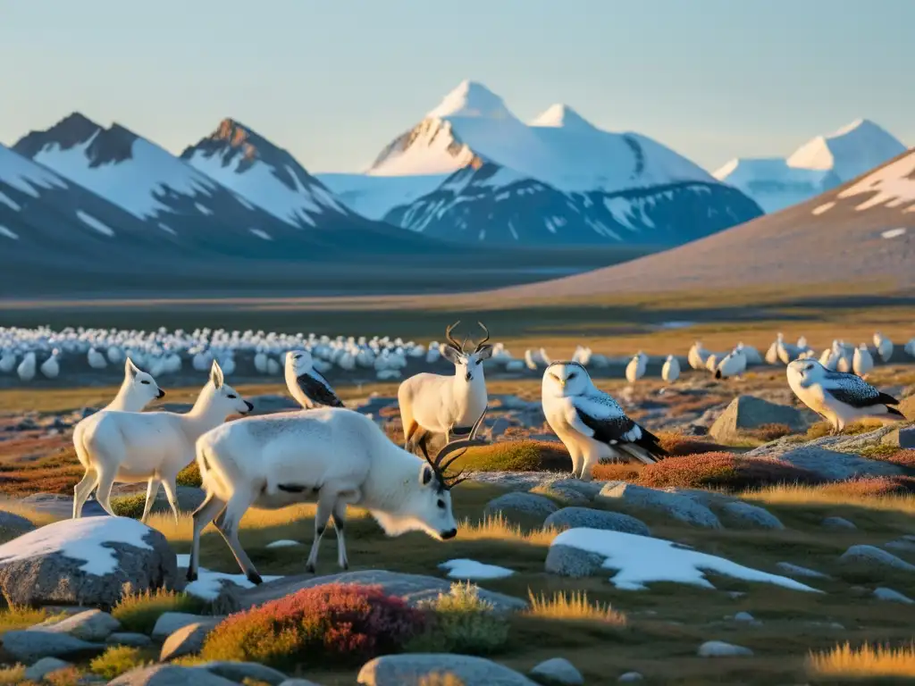
<instances>
[{"instance_id":1,"label":"large red and orange shrub in foreground below grazing reindeer","mask_svg":"<svg viewBox=\"0 0 915 686\"><path fill-rule=\"evenodd\" d=\"M280 669L309 660L361 664L402 649L424 625L421 611L381 586L325 584L227 617L201 656Z\"/></svg>"}]
</instances>

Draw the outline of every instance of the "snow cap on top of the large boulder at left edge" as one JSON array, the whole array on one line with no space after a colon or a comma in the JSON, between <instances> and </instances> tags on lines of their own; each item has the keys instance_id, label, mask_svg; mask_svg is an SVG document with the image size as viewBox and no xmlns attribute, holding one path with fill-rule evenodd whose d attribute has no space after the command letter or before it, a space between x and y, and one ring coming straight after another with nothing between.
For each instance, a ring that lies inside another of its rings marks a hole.
<instances>
[{"instance_id":1,"label":"snow cap on top of the large boulder at left edge","mask_svg":"<svg viewBox=\"0 0 915 686\"><path fill-rule=\"evenodd\" d=\"M59 552L71 560L82 561L82 572L104 576L117 569L117 557L113 548L102 544L126 543L135 548L152 550L152 546L144 541L148 531L145 524L128 517L56 521L0 545L0 561L26 560L35 555Z\"/></svg>"}]
</instances>

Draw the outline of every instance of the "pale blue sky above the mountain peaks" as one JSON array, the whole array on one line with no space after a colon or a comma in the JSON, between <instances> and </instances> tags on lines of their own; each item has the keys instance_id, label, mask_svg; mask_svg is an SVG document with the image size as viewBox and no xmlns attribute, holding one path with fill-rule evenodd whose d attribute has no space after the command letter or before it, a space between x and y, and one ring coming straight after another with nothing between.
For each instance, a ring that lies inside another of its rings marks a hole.
<instances>
[{"instance_id":1,"label":"pale blue sky above the mountain peaks","mask_svg":"<svg viewBox=\"0 0 915 686\"><path fill-rule=\"evenodd\" d=\"M79 110L180 152L222 117L358 170L465 78L714 169L857 117L915 144L915 0L0 0L0 141Z\"/></svg>"}]
</instances>

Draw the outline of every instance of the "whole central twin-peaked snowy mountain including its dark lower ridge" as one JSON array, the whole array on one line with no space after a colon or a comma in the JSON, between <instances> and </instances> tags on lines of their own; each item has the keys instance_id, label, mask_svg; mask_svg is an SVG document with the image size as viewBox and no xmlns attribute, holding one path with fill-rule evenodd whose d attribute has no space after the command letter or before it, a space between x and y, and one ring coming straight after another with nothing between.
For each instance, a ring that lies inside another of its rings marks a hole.
<instances>
[{"instance_id":1,"label":"whole central twin-peaked snowy mountain including its dark lower ridge","mask_svg":"<svg viewBox=\"0 0 915 686\"><path fill-rule=\"evenodd\" d=\"M437 188L402 199L446 174ZM761 213L650 138L602 131L565 104L523 123L474 81L387 145L361 184L325 180L354 208L463 242L681 243Z\"/></svg>"}]
</instances>

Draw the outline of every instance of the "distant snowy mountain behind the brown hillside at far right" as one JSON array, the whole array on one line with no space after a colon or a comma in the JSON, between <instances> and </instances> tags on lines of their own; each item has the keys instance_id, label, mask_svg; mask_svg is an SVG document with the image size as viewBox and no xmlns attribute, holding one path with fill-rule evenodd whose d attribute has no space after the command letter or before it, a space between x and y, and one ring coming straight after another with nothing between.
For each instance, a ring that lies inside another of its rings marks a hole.
<instances>
[{"instance_id":1,"label":"distant snowy mountain behind the brown hillside at far right","mask_svg":"<svg viewBox=\"0 0 915 686\"><path fill-rule=\"evenodd\" d=\"M813 198L904 152L906 146L876 123L858 119L818 135L788 157L737 158L714 177L739 188L766 212Z\"/></svg>"}]
</instances>

